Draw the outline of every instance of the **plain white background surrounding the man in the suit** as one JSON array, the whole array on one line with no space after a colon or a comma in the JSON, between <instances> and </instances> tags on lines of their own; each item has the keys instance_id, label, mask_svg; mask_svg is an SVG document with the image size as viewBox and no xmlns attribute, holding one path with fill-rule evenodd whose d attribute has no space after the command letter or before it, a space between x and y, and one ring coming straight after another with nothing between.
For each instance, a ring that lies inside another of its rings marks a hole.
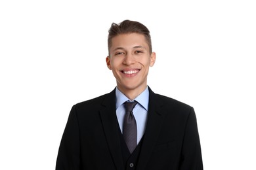
<instances>
[{"instance_id":1,"label":"plain white background surrounding the man in the suit","mask_svg":"<svg viewBox=\"0 0 256 170\"><path fill-rule=\"evenodd\" d=\"M207 170L256 169L255 1L1 1L0 169L54 169L72 105L114 89L112 22L150 29L148 85L196 110Z\"/></svg>"}]
</instances>

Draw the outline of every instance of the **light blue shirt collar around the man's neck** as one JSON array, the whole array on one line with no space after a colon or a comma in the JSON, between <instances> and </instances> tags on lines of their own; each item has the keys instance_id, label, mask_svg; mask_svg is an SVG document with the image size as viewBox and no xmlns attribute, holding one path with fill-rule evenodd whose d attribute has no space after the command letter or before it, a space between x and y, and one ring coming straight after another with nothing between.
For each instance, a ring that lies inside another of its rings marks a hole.
<instances>
[{"instance_id":1,"label":"light blue shirt collar around the man's neck","mask_svg":"<svg viewBox=\"0 0 256 170\"><path fill-rule=\"evenodd\" d=\"M140 93L134 100L136 100L144 109L148 110L149 91L148 86ZM121 106L125 101L130 101L118 88L116 88L116 109Z\"/></svg>"}]
</instances>

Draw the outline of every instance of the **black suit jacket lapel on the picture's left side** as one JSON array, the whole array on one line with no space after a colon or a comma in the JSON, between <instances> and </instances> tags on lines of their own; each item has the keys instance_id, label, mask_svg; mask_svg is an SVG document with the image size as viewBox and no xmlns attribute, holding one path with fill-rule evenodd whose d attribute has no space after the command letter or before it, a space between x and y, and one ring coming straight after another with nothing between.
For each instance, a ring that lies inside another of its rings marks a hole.
<instances>
[{"instance_id":1,"label":"black suit jacket lapel on the picture's left side","mask_svg":"<svg viewBox=\"0 0 256 170\"><path fill-rule=\"evenodd\" d=\"M103 109L100 110L100 117L106 135L106 141L110 148L116 169L124 169L119 140L119 125L116 118L116 93L113 90L102 103Z\"/></svg>"}]
</instances>

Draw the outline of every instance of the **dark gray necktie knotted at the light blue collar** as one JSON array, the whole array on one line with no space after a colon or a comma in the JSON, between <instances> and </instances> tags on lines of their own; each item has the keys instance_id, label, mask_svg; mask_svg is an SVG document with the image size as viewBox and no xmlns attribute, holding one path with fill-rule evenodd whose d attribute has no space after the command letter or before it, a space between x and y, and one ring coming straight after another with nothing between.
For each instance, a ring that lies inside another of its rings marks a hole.
<instances>
[{"instance_id":1,"label":"dark gray necktie knotted at the light blue collar","mask_svg":"<svg viewBox=\"0 0 256 170\"><path fill-rule=\"evenodd\" d=\"M137 146L137 124L135 117L133 116L133 108L137 104L137 101L125 102L125 118L123 120L123 138L130 151L133 153Z\"/></svg>"}]
</instances>

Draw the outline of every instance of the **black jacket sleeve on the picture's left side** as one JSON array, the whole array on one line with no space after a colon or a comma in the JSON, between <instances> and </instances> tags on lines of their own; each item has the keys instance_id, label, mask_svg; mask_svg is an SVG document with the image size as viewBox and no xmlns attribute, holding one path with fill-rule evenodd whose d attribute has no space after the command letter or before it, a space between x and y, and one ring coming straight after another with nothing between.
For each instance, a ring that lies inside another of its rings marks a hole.
<instances>
[{"instance_id":1,"label":"black jacket sleeve on the picture's left side","mask_svg":"<svg viewBox=\"0 0 256 170\"><path fill-rule=\"evenodd\" d=\"M79 126L74 105L70 111L68 122L60 142L56 160L56 170L79 170L79 150Z\"/></svg>"}]
</instances>

